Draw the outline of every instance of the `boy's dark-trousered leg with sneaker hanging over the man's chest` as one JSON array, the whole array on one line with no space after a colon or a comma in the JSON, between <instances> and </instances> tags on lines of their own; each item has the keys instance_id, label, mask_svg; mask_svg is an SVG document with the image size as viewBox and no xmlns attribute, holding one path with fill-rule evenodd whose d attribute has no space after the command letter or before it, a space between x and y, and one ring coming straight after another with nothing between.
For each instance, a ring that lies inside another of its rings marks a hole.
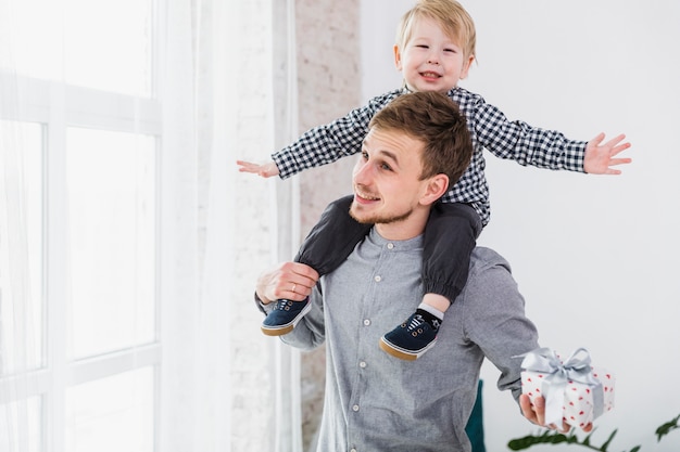
<instances>
[{"instance_id":1,"label":"boy's dark-trousered leg with sneaker hanging over the man's chest","mask_svg":"<svg viewBox=\"0 0 680 452\"><path fill-rule=\"evenodd\" d=\"M425 296L404 323L382 336L385 351L415 360L435 345L445 310L465 287L480 232L481 220L470 206L438 203L432 207L424 236Z\"/></svg>"}]
</instances>

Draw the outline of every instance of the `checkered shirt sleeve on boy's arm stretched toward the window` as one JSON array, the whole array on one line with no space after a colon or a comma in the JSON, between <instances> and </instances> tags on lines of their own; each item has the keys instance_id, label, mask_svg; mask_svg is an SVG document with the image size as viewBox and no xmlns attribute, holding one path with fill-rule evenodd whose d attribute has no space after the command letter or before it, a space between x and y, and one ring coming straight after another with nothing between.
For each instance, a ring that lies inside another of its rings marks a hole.
<instances>
[{"instance_id":1,"label":"checkered shirt sleeve on boy's arm stretched toward the window","mask_svg":"<svg viewBox=\"0 0 680 452\"><path fill-rule=\"evenodd\" d=\"M370 118L396 95L398 90L374 98L332 122L307 130L294 143L272 154L279 177L287 179L361 152Z\"/></svg>"}]
</instances>

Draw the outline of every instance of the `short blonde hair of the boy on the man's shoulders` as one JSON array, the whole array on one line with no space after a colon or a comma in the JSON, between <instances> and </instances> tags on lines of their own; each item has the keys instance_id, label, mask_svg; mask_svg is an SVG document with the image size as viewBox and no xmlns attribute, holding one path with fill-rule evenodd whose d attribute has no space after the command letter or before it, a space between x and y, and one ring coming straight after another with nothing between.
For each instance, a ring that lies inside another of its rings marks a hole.
<instances>
[{"instance_id":1,"label":"short blonde hair of the boy on the man's shoulders","mask_svg":"<svg viewBox=\"0 0 680 452\"><path fill-rule=\"evenodd\" d=\"M446 36L463 49L465 57L475 56L477 33L473 17L456 0L418 0L415 7L402 16L396 29L396 46L401 51L411 39L416 20L428 17L439 24Z\"/></svg>"}]
</instances>

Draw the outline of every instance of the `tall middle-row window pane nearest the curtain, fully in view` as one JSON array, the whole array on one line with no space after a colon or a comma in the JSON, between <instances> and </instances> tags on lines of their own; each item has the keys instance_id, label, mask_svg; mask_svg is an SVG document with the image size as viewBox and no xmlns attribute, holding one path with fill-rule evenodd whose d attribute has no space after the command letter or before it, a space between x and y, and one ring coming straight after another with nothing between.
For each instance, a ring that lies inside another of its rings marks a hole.
<instances>
[{"instance_id":1,"label":"tall middle-row window pane nearest the curtain, fully in view","mask_svg":"<svg viewBox=\"0 0 680 452\"><path fill-rule=\"evenodd\" d=\"M155 140L66 134L70 358L155 338Z\"/></svg>"}]
</instances>

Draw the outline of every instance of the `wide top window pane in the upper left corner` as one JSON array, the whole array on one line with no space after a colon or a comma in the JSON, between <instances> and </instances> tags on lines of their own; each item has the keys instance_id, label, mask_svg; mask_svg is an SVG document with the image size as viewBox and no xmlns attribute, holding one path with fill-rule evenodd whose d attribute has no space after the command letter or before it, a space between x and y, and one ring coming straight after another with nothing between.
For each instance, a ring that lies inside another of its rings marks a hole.
<instances>
[{"instance_id":1,"label":"wide top window pane in the upper left corner","mask_svg":"<svg viewBox=\"0 0 680 452\"><path fill-rule=\"evenodd\" d=\"M2 3L4 5L4 3ZM15 0L0 7L0 67L151 94L151 0ZM39 12L39 13L37 13Z\"/></svg>"}]
</instances>

